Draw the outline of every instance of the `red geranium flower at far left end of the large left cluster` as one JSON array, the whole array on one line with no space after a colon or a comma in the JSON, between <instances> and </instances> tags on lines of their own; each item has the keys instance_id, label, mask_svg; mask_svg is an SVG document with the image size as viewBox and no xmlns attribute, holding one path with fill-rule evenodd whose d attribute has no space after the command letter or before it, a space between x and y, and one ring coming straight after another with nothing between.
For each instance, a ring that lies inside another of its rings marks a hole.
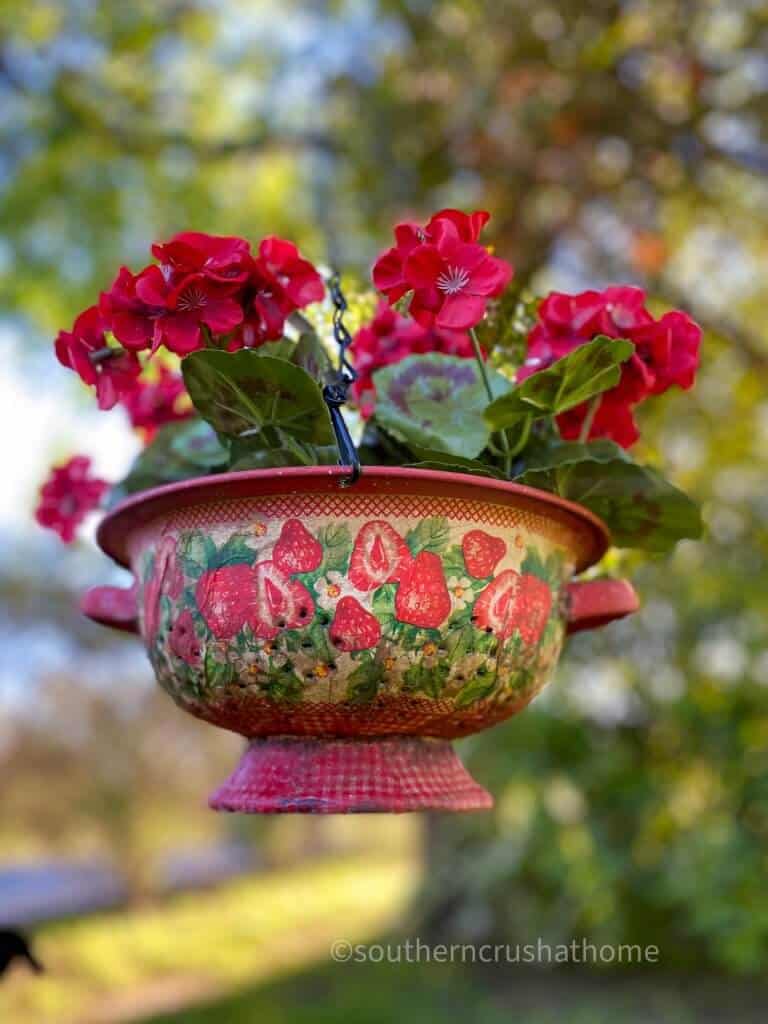
<instances>
[{"instance_id":1,"label":"red geranium flower at far left end of the large left cluster","mask_svg":"<svg viewBox=\"0 0 768 1024\"><path fill-rule=\"evenodd\" d=\"M112 409L136 386L141 366L133 352L109 348L106 325L98 306L90 306L75 321L72 331L59 331L54 343L58 361L74 370L86 384L95 385L99 409ZM101 352L92 359L94 352Z\"/></svg>"}]
</instances>

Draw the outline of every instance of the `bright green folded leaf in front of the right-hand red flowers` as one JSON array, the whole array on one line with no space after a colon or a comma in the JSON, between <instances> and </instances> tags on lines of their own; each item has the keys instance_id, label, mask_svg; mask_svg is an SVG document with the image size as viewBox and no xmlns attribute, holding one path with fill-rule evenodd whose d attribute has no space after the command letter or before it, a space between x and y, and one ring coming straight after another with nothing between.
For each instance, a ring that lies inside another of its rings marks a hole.
<instances>
[{"instance_id":1,"label":"bright green folded leaf in front of the right-hand red flowers","mask_svg":"<svg viewBox=\"0 0 768 1024\"><path fill-rule=\"evenodd\" d=\"M492 401L485 420L501 430L526 416L554 416L580 406L618 383L621 365L634 350L631 341L600 335Z\"/></svg>"}]
</instances>

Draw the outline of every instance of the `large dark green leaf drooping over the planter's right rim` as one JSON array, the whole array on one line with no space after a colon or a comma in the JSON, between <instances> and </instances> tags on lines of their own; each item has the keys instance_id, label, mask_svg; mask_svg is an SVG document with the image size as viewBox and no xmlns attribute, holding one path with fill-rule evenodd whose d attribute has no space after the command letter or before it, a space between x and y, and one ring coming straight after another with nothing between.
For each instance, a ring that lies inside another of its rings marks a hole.
<instances>
[{"instance_id":1,"label":"large dark green leaf drooping over the planter's right rim","mask_svg":"<svg viewBox=\"0 0 768 1024\"><path fill-rule=\"evenodd\" d=\"M590 445L591 447L591 445ZM620 548L666 552L701 536L696 504L648 466L594 459L549 470L528 470L519 482L579 502L603 519ZM554 483L554 486L552 485Z\"/></svg>"}]
</instances>

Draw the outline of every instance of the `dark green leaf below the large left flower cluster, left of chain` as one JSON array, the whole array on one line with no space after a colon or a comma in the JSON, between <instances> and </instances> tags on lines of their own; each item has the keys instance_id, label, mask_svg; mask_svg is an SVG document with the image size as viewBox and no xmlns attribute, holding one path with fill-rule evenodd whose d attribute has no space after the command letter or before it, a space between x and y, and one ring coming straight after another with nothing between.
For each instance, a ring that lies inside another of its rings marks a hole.
<instances>
[{"instance_id":1,"label":"dark green leaf below the large left flower cluster, left of chain","mask_svg":"<svg viewBox=\"0 0 768 1024\"><path fill-rule=\"evenodd\" d=\"M261 436L279 447L274 429L299 441L333 444L328 408L316 381L286 359L258 349L201 349L182 360L195 408L227 437Z\"/></svg>"}]
</instances>

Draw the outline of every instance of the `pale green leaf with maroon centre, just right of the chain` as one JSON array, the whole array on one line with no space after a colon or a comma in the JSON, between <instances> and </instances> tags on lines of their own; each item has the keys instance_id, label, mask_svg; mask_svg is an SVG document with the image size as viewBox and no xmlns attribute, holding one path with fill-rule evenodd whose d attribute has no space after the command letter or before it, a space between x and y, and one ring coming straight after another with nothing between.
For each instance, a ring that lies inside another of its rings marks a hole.
<instances>
[{"instance_id":1,"label":"pale green leaf with maroon centre, just right of the chain","mask_svg":"<svg viewBox=\"0 0 768 1024\"><path fill-rule=\"evenodd\" d=\"M509 381L488 369L495 393ZM487 444L487 394L472 359L410 355L374 374L376 420L407 444L474 459Z\"/></svg>"}]
</instances>

